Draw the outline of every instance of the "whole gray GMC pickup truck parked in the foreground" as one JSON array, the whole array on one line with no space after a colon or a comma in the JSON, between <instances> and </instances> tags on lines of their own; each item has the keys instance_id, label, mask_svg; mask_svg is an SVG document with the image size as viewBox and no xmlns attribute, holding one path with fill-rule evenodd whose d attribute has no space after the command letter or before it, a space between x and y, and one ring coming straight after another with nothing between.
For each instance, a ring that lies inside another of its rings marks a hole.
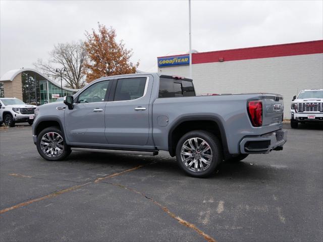
<instances>
[{"instance_id":1,"label":"whole gray GMC pickup truck parked in the foreground","mask_svg":"<svg viewBox=\"0 0 323 242\"><path fill-rule=\"evenodd\" d=\"M71 151L176 156L189 175L223 160L282 150L283 97L254 93L195 96L191 79L160 73L100 78L64 103L35 110L33 140L46 160Z\"/></svg>"}]
</instances>

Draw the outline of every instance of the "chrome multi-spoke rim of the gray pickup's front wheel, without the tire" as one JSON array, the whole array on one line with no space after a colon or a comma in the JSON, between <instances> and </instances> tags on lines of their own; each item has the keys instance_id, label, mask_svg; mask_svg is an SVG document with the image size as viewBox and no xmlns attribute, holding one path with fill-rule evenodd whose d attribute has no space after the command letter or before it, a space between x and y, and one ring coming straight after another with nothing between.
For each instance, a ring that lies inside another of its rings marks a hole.
<instances>
[{"instance_id":1,"label":"chrome multi-spoke rim of the gray pickup's front wheel, without the tire","mask_svg":"<svg viewBox=\"0 0 323 242\"><path fill-rule=\"evenodd\" d=\"M58 157L64 151L63 137L56 132L49 132L41 137L41 151L49 157Z\"/></svg>"}]
</instances>

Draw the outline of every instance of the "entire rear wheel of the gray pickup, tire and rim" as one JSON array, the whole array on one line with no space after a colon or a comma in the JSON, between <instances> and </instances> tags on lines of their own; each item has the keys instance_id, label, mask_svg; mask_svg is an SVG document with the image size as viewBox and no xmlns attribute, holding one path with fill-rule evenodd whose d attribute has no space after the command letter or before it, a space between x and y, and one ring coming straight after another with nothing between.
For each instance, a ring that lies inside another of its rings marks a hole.
<instances>
[{"instance_id":1,"label":"entire rear wheel of the gray pickup, tire and rim","mask_svg":"<svg viewBox=\"0 0 323 242\"><path fill-rule=\"evenodd\" d=\"M176 159L188 175L206 177L222 161L222 145L212 133L191 131L177 143Z\"/></svg>"}]
</instances>

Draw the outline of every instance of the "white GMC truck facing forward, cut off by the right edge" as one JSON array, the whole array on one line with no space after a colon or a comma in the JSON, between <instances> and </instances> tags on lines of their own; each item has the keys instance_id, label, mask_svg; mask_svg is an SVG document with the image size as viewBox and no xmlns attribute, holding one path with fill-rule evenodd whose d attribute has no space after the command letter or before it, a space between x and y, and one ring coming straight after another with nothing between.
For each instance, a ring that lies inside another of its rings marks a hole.
<instances>
[{"instance_id":1,"label":"white GMC truck facing forward, cut off by the right edge","mask_svg":"<svg viewBox=\"0 0 323 242\"><path fill-rule=\"evenodd\" d=\"M323 89L302 90L291 104L291 127L298 123L323 122Z\"/></svg>"}]
</instances>

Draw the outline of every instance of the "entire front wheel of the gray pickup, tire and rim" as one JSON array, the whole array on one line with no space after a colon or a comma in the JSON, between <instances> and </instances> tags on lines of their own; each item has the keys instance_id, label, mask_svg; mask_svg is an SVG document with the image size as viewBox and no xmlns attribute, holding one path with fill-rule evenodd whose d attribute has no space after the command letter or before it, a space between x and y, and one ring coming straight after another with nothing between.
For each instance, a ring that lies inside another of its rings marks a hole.
<instances>
[{"instance_id":1,"label":"entire front wheel of the gray pickup, tire and rim","mask_svg":"<svg viewBox=\"0 0 323 242\"><path fill-rule=\"evenodd\" d=\"M37 136L36 146L41 157L50 161L63 160L71 153L63 132L57 127L42 130Z\"/></svg>"}]
</instances>

